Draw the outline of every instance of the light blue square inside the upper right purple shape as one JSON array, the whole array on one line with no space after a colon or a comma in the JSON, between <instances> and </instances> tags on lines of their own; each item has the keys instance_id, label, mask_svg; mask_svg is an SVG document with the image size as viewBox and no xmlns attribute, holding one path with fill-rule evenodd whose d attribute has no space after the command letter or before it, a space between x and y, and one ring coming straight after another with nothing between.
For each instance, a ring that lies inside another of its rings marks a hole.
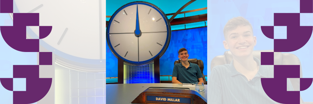
<instances>
[{"instance_id":1,"label":"light blue square inside the upper right purple shape","mask_svg":"<svg viewBox=\"0 0 313 104\"><path fill-rule=\"evenodd\" d=\"M274 26L274 39L287 39L287 26Z\"/></svg>"}]
</instances>

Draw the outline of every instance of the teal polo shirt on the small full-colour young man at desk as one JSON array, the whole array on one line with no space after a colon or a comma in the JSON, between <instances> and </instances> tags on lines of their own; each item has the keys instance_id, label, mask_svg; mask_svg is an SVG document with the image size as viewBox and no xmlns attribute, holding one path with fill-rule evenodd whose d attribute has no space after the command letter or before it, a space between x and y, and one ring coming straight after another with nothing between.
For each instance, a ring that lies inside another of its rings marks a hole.
<instances>
[{"instance_id":1,"label":"teal polo shirt on the small full-colour young man at desk","mask_svg":"<svg viewBox=\"0 0 313 104\"><path fill-rule=\"evenodd\" d=\"M189 61L188 61L189 62ZM177 77L177 80L182 83L199 82L198 78L202 78L200 67L197 64L189 62L189 67L186 68L182 63L174 65L172 77Z\"/></svg>"}]
</instances>

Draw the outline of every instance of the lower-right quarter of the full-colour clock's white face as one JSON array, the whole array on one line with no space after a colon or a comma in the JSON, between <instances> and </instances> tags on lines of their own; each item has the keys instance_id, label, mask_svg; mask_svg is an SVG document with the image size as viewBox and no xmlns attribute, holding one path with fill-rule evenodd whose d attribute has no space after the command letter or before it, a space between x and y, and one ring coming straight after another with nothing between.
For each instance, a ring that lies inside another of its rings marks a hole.
<instances>
[{"instance_id":1,"label":"lower-right quarter of the full-colour clock's white face","mask_svg":"<svg viewBox=\"0 0 313 104\"><path fill-rule=\"evenodd\" d=\"M139 61L146 61L161 51L166 42L167 32L142 33L139 37ZM159 44L161 45L159 45ZM150 54L150 52L152 54Z\"/></svg>"}]
</instances>

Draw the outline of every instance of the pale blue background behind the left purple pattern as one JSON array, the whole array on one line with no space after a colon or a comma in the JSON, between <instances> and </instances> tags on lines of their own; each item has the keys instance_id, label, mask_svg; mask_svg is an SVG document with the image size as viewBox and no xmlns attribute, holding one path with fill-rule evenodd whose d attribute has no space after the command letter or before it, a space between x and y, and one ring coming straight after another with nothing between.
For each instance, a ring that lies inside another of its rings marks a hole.
<instances>
[{"instance_id":1,"label":"pale blue background behind the left purple pattern","mask_svg":"<svg viewBox=\"0 0 313 104\"><path fill-rule=\"evenodd\" d=\"M0 13L0 26L13 26L12 19L8 13ZM13 78L13 65L37 65L37 52L17 51L11 48L0 35L0 78ZM26 86L23 86L23 84L26 83L16 80L13 90L26 89ZM2 84L0 84L0 103L13 104L13 92L5 89ZM37 102L33 104L37 104Z\"/></svg>"}]
</instances>

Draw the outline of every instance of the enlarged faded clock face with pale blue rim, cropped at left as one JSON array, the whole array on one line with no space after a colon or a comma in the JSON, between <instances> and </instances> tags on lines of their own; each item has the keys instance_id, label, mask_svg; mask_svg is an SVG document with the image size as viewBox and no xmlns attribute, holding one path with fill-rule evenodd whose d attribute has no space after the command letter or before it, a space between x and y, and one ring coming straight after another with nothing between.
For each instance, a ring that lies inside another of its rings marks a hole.
<instances>
[{"instance_id":1,"label":"enlarged faded clock face with pale blue rim, cropped at left","mask_svg":"<svg viewBox=\"0 0 313 104\"><path fill-rule=\"evenodd\" d=\"M39 13L39 25L52 26L40 39L49 51L74 62L105 63L105 2L14 0L14 5L14 12ZM39 27L27 27L27 33L38 38Z\"/></svg>"}]
</instances>

